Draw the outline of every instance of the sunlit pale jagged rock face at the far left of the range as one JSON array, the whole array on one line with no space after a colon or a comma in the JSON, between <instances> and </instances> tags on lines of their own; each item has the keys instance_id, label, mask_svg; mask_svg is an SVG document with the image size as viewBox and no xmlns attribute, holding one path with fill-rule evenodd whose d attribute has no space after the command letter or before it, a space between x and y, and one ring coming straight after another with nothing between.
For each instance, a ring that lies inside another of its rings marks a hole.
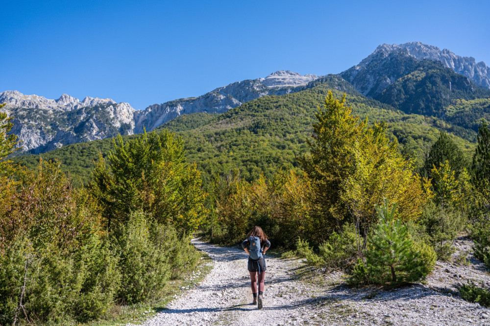
<instances>
[{"instance_id":1,"label":"sunlit pale jagged rock face at the far left of the range","mask_svg":"<svg viewBox=\"0 0 490 326\"><path fill-rule=\"evenodd\" d=\"M85 97L79 101L63 94L57 100L17 91L0 93L0 103L12 116L12 133L21 140L22 150L44 153L67 144L131 135L134 110L128 103Z\"/></svg>"}]
</instances>

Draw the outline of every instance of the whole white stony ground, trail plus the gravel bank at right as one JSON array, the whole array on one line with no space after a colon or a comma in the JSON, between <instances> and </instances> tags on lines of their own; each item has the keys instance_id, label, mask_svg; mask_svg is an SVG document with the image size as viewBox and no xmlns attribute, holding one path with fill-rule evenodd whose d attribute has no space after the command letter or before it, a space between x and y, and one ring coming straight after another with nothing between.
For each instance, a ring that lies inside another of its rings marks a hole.
<instances>
[{"instance_id":1,"label":"whole white stony ground, trail plus the gravel bank at right","mask_svg":"<svg viewBox=\"0 0 490 326\"><path fill-rule=\"evenodd\" d=\"M455 292L470 279L490 282L466 239L456 241L453 255L465 263L438 262L425 284L389 291L351 289L339 272L301 277L301 260L266 256L262 310L251 304L243 250L193 243L212 258L213 269L144 325L490 325L490 309Z\"/></svg>"}]
</instances>

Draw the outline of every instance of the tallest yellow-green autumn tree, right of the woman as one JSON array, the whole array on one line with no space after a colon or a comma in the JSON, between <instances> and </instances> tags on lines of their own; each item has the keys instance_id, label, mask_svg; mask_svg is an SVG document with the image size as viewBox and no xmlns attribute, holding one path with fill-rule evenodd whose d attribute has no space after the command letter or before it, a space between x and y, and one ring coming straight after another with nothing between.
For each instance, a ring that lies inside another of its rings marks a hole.
<instances>
[{"instance_id":1,"label":"tallest yellow-green autumn tree, right of the woman","mask_svg":"<svg viewBox=\"0 0 490 326\"><path fill-rule=\"evenodd\" d=\"M352 115L345 94L338 100L329 92L318 109L318 122L308 141L311 154L299 162L315 191L313 228L325 239L334 228L352 221L358 231L359 251L377 222L375 204L384 197L399 203L401 219L414 219L423 202L420 180L411 161L386 136L386 124L367 125Z\"/></svg>"}]
</instances>

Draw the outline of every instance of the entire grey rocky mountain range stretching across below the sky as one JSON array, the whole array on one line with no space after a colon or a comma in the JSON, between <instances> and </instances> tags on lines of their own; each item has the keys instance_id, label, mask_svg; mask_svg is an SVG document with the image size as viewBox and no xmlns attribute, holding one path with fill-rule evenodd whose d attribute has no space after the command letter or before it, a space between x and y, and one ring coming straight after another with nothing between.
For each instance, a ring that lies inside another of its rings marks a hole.
<instances>
[{"instance_id":1,"label":"entire grey rocky mountain range stretching across below the sky","mask_svg":"<svg viewBox=\"0 0 490 326\"><path fill-rule=\"evenodd\" d=\"M461 57L447 49L411 42L383 44L339 75L301 75L280 70L198 97L153 104L145 110L135 110L128 103L108 98L86 97L79 101L63 94L52 100L17 91L0 93L0 103L6 103L7 113L14 117L12 132L23 141L23 151L38 154L67 144L151 131L186 114L223 114L266 95L302 92L325 83L335 90L362 94L407 114L450 121L455 127L462 114L454 109L454 100L490 97L490 69L485 63L476 63L472 57ZM477 106L480 113L472 121L465 121L466 129L474 131L476 120L488 116L485 103Z\"/></svg>"}]
</instances>

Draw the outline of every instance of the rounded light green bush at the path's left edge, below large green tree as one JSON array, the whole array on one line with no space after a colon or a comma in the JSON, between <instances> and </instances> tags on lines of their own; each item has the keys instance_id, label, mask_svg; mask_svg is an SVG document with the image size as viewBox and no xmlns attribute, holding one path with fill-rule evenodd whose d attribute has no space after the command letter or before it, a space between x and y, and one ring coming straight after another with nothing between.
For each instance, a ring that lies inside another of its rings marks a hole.
<instances>
[{"instance_id":1,"label":"rounded light green bush at the path's left edge, below large green tree","mask_svg":"<svg viewBox=\"0 0 490 326\"><path fill-rule=\"evenodd\" d=\"M187 236L178 236L171 225L147 220L151 216L135 212L112 235L122 274L118 298L124 303L158 296L170 279L182 277L200 257Z\"/></svg>"}]
</instances>

